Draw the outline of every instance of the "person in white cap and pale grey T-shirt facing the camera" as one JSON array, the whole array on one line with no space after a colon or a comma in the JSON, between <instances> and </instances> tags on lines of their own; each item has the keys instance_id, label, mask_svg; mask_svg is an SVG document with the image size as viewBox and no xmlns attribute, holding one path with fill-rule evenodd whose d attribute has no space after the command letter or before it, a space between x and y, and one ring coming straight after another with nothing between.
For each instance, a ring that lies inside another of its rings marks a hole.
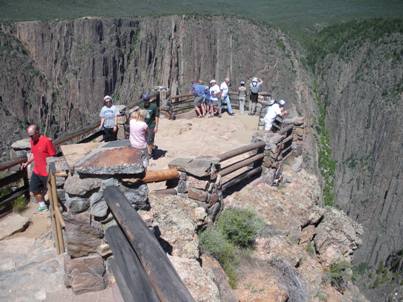
<instances>
[{"instance_id":1,"label":"person in white cap and pale grey T-shirt facing the camera","mask_svg":"<svg viewBox=\"0 0 403 302\"><path fill-rule=\"evenodd\" d=\"M101 109L99 117L101 124L99 129L103 130L103 139L105 142L115 141L118 134L118 114L115 105L112 105L112 98L109 95L104 97L104 106Z\"/></svg>"}]
</instances>

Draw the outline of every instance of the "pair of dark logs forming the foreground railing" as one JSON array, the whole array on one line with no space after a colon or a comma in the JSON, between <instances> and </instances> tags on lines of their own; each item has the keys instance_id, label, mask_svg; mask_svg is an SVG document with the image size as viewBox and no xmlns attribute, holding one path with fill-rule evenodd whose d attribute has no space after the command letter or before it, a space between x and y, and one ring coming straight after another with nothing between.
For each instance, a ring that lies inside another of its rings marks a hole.
<instances>
[{"instance_id":1,"label":"pair of dark logs forming the foreground railing","mask_svg":"<svg viewBox=\"0 0 403 302\"><path fill-rule=\"evenodd\" d=\"M106 230L124 301L194 301L155 235L117 187L104 198L117 226Z\"/></svg>"}]
</instances>

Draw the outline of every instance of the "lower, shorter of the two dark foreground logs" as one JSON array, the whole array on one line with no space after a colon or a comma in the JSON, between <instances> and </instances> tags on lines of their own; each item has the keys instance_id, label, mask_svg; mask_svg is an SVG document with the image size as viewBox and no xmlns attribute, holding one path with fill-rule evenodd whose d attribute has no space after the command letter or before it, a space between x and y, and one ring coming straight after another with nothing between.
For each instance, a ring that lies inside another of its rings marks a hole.
<instances>
[{"instance_id":1,"label":"lower, shorter of the two dark foreground logs","mask_svg":"<svg viewBox=\"0 0 403 302\"><path fill-rule=\"evenodd\" d=\"M111 226L105 231L105 238L118 268L116 275L115 270L113 272L125 302L159 301L140 260L122 230L118 226Z\"/></svg>"}]
</instances>

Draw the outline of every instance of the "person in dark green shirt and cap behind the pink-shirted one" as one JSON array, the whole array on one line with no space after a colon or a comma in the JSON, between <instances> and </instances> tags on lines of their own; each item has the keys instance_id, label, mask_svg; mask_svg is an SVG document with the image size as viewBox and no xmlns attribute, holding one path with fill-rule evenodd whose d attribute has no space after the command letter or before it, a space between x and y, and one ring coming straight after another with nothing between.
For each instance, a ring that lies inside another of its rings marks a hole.
<instances>
[{"instance_id":1,"label":"person in dark green shirt and cap behind the pink-shirted one","mask_svg":"<svg viewBox=\"0 0 403 302\"><path fill-rule=\"evenodd\" d=\"M154 140L155 134L158 132L158 123L160 120L160 109L156 102L150 101L150 95L148 93L143 93L142 95L142 109L146 111L146 116L144 121L146 122L147 128L147 150L148 156L152 157L155 151Z\"/></svg>"}]
</instances>

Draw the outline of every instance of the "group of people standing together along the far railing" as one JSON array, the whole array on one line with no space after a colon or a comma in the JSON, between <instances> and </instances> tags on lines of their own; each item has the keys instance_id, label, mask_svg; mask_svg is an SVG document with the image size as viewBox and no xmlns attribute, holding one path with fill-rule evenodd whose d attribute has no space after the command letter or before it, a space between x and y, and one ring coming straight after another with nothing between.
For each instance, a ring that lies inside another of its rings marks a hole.
<instances>
[{"instance_id":1,"label":"group of people standing together along the far railing","mask_svg":"<svg viewBox=\"0 0 403 302\"><path fill-rule=\"evenodd\" d=\"M239 111L241 114L245 112L245 102L249 95L249 114L256 114L256 104L258 101L259 92L262 90L261 79L256 77L252 78L249 84L249 91L246 88L245 81L240 81L238 87L238 100ZM234 115L229 96L230 79L225 78L224 81L218 85L216 80L211 80L209 85L203 84L199 80L192 83L192 93L194 95L194 108L198 117L212 117L217 115L221 117L223 105L229 115Z\"/></svg>"}]
</instances>

